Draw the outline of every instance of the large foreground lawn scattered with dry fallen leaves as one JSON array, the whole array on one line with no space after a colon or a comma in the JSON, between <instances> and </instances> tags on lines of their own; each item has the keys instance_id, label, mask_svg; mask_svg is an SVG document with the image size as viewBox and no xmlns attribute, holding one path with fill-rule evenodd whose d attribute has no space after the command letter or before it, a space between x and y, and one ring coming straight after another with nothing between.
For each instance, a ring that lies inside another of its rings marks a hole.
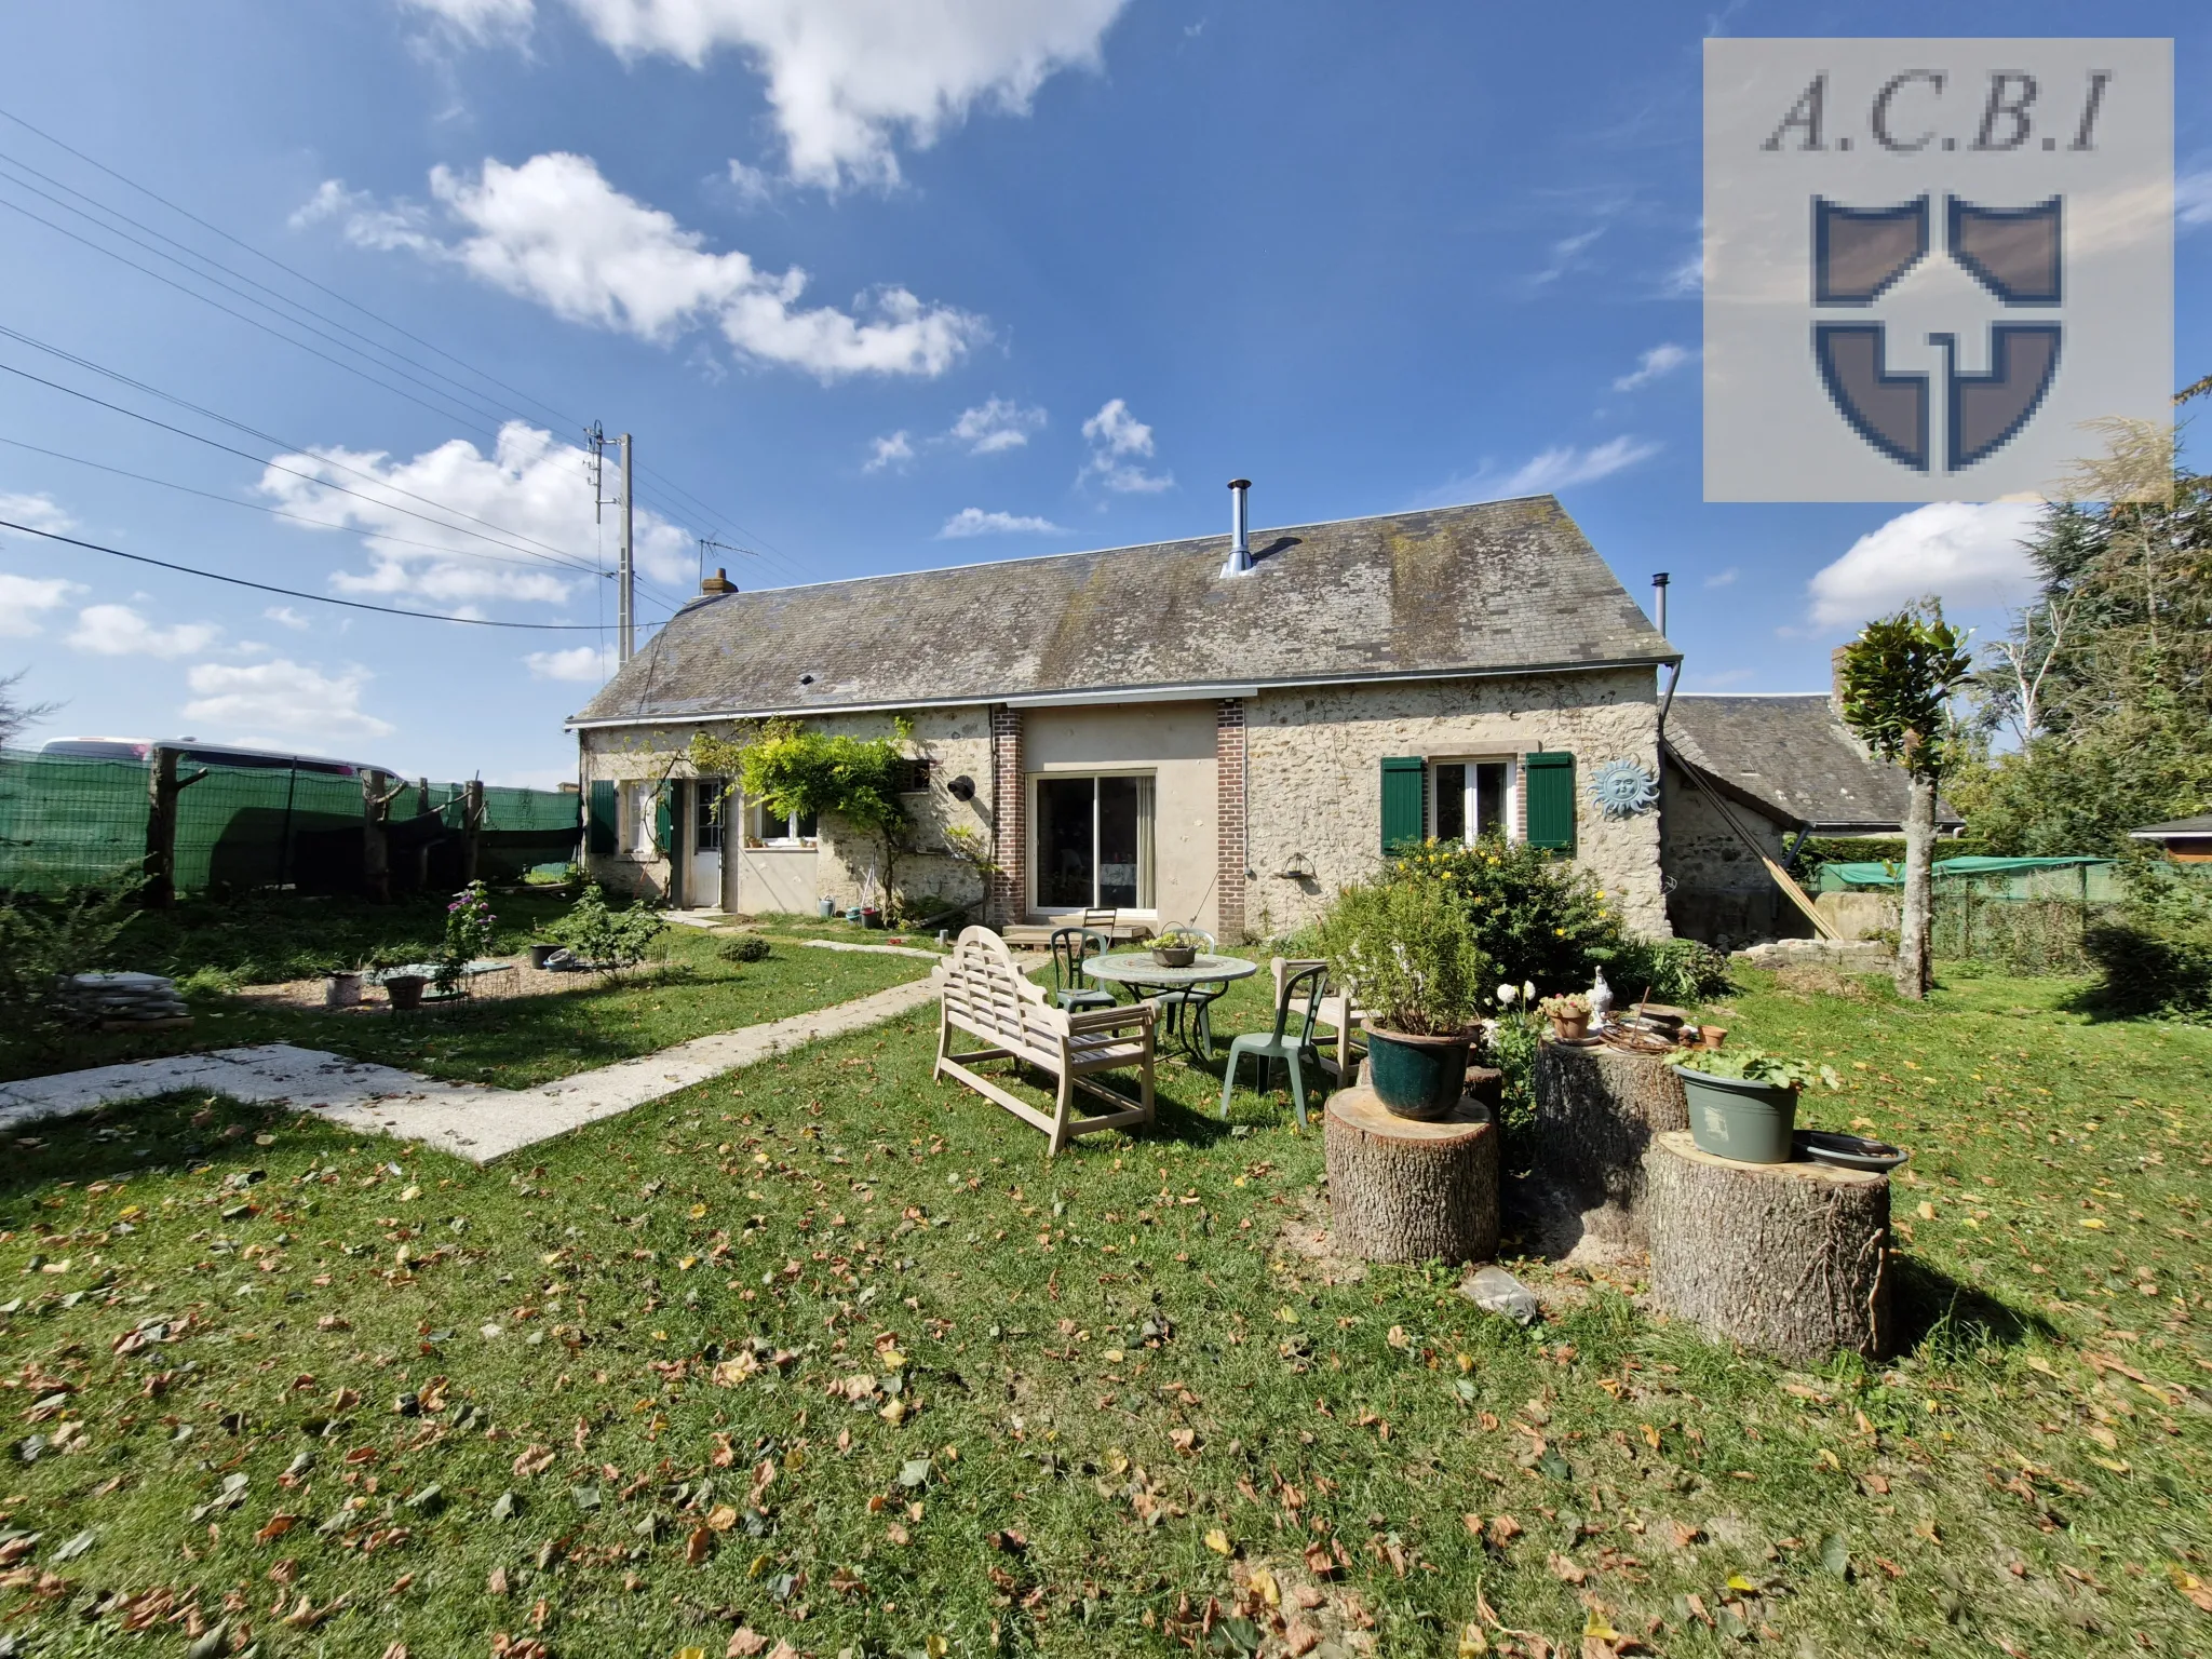
<instances>
[{"instance_id":1,"label":"large foreground lawn scattered with dry fallen leaves","mask_svg":"<svg viewBox=\"0 0 2212 1659\"><path fill-rule=\"evenodd\" d=\"M489 1170L199 1097L38 1124L0 1164L0 1630L2205 1652L2212 1031L2053 982L1838 991L1725 1015L1843 1071L1807 1119L1916 1150L1909 1347L1805 1374L1632 1272L1509 1263L1522 1332L1312 1254L1318 1137L1250 1091L1221 1124L1203 1068L1046 1164L929 1084L927 1018Z\"/></svg>"}]
</instances>

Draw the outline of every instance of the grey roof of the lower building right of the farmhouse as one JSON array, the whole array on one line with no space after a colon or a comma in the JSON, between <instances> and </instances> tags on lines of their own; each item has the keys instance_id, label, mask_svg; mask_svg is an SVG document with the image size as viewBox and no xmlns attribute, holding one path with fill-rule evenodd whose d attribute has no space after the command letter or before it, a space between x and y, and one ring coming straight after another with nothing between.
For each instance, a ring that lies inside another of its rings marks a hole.
<instances>
[{"instance_id":1,"label":"grey roof of the lower building right of the farmhouse","mask_svg":"<svg viewBox=\"0 0 2212 1659\"><path fill-rule=\"evenodd\" d=\"M1820 692L1677 697L1666 717L1674 754L1776 823L1832 834L1898 834L1905 772L1876 761ZM1938 823L1962 818L1944 805Z\"/></svg>"}]
</instances>

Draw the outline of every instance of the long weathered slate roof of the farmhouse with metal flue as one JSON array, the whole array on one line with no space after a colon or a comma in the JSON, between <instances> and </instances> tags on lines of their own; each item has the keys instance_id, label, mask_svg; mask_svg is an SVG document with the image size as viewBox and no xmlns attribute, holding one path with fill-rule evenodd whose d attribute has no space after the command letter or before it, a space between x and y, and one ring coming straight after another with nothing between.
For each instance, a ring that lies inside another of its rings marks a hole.
<instances>
[{"instance_id":1,"label":"long weathered slate roof of the farmhouse with metal flue","mask_svg":"<svg viewBox=\"0 0 2212 1659\"><path fill-rule=\"evenodd\" d=\"M701 597L575 726L1666 664L1551 495Z\"/></svg>"}]
</instances>

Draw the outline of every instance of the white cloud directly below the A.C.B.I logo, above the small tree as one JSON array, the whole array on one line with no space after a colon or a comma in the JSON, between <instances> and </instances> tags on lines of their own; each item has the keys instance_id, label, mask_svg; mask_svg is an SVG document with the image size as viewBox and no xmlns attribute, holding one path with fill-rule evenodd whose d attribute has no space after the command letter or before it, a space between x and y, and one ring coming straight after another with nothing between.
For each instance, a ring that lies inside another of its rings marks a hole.
<instances>
[{"instance_id":1,"label":"white cloud directly below the A.C.B.I logo, above the small tree","mask_svg":"<svg viewBox=\"0 0 2212 1659\"><path fill-rule=\"evenodd\" d=\"M2020 604L2035 568L2020 540L2035 529L2035 502L1929 502L1860 535L1812 577L1812 617L1851 626L1924 593L1947 606Z\"/></svg>"}]
</instances>

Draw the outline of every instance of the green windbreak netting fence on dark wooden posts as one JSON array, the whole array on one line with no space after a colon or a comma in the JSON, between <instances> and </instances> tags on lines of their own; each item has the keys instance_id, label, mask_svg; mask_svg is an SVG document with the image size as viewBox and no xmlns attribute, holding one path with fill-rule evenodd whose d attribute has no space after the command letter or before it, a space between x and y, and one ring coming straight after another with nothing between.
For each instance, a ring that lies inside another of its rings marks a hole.
<instances>
[{"instance_id":1,"label":"green windbreak netting fence on dark wooden posts","mask_svg":"<svg viewBox=\"0 0 2212 1659\"><path fill-rule=\"evenodd\" d=\"M177 763L179 894L246 887L358 891L358 776L288 765ZM385 785L392 787L392 785ZM58 894L146 867L148 763L0 750L0 891ZM396 889L462 878L467 790L400 781L387 812ZM577 796L484 787L476 874L513 880L575 858Z\"/></svg>"}]
</instances>

